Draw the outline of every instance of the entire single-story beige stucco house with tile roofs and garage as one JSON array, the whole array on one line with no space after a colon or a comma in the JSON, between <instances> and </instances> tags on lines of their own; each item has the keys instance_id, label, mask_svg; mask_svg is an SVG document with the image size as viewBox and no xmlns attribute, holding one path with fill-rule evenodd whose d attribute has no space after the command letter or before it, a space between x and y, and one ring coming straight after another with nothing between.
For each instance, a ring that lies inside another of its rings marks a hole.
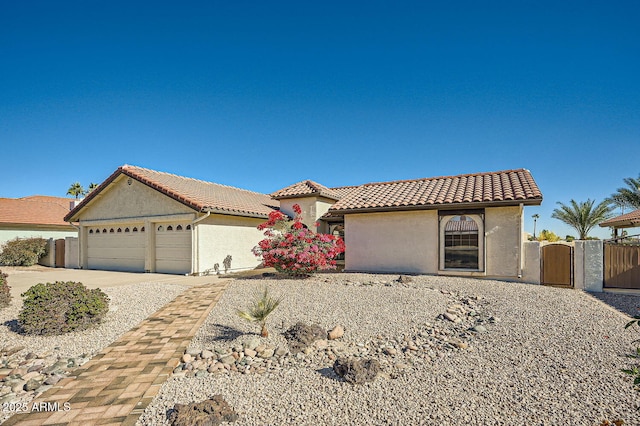
<instances>
[{"instance_id":1,"label":"entire single-story beige stucco house with tile roofs and garage","mask_svg":"<svg viewBox=\"0 0 640 426\"><path fill-rule=\"evenodd\" d=\"M523 208L542 194L528 170L328 188L307 180L271 195L134 166L118 168L65 220L80 266L203 273L248 269L269 213L343 236L345 269L517 278Z\"/></svg>"}]
</instances>

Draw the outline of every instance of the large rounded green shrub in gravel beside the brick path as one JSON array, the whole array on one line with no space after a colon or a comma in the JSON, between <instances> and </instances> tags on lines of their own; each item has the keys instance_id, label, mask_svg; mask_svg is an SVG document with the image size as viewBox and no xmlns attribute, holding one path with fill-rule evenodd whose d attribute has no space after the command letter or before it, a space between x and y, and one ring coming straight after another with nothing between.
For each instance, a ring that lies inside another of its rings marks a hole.
<instances>
[{"instance_id":1,"label":"large rounded green shrub in gravel beside the brick path","mask_svg":"<svg viewBox=\"0 0 640 426\"><path fill-rule=\"evenodd\" d=\"M102 321L109 297L73 281L36 284L22 293L18 322L25 333L54 335L84 330Z\"/></svg>"}]
</instances>

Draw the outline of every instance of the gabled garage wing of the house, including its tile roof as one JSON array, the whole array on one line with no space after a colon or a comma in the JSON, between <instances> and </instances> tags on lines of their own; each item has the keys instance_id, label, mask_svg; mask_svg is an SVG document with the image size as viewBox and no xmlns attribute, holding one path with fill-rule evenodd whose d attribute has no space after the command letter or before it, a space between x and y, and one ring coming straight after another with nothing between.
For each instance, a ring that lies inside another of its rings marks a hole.
<instances>
[{"instance_id":1,"label":"gabled garage wing of the house, including its tile roof","mask_svg":"<svg viewBox=\"0 0 640 426\"><path fill-rule=\"evenodd\" d=\"M249 269L268 195L134 166L118 168L65 220L80 227L85 269L203 273Z\"/></svg>"}]
</instances>

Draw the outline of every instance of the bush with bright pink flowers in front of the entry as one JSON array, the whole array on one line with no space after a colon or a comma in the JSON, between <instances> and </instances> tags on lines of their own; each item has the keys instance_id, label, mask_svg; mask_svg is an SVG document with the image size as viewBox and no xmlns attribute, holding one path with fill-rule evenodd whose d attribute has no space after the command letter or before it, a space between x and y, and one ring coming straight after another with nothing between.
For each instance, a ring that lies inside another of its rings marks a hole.
<instances>
[{"instance_id":1,"label":"bush with bright pink flowers in front of the entry","mask_svg":"<svg viewBox=\"0 0 640 426\"><path fill-rule=\"evenodd\" d=\"M269 214L269 220L258 226L265 230L264 240L253 248L264 266L272 266L288 275L309 275L318 270L335 269L335 258L344 252L344 241L333 235L317 234L302 223L302 210L294 204L296 216L290 220L281 212Z\"/></svg>"}]
</instances>

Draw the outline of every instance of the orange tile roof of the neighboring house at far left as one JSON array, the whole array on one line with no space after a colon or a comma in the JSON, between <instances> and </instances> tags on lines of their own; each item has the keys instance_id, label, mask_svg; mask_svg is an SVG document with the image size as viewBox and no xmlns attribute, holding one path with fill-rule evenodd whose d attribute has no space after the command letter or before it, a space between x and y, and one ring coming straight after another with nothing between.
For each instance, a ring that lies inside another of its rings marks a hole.
<instances>
[{"instance_id":1,"label":"orange tile roof of the neighboring house at far left","mask_svg":"<svg viewBox=\"0 0 640 426\"><path fill-rule=\"evenodd\" d=\"M37 195L25 198L0 198L0 224L64 226L75 229L64 221L69 213L68 198Z\"/></svg>"}]
</instances>

